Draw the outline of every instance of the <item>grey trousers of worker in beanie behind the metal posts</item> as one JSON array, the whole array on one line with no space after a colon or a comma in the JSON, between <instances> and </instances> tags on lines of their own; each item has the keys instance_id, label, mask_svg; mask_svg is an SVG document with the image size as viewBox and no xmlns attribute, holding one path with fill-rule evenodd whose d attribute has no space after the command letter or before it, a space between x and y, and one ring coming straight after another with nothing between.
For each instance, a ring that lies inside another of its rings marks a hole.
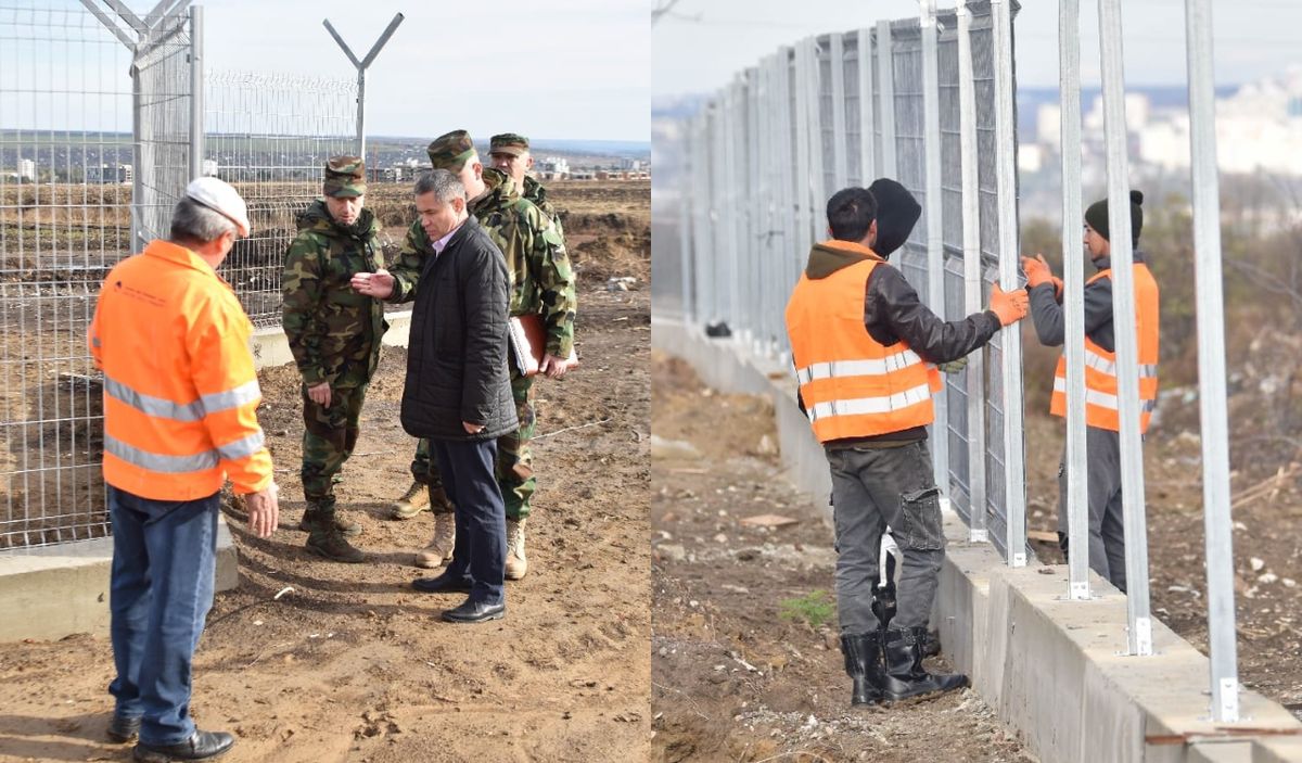
<instances>
[{"instance_id":1,"label":"grey trousers of worker in beanie behind the metal posts","mask_svg":"<svg viewBox=\"0 0 1302 763\"><path fill-rule=\"evenodd\" d=\"M1126 591L1126 535L1121 512L1121 437L1085 427L1088 464L1090 569ZM1059 464L1059 533L1066 534L1066 452Z\"/></svg>"}]
</instances>

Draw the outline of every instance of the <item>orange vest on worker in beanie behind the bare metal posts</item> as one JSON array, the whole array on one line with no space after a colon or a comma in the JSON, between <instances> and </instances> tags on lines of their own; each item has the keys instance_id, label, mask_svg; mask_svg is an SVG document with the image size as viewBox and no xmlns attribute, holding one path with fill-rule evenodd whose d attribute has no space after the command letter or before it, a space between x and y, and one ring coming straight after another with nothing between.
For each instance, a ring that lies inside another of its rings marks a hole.
<instances>
[{"instance_id":1,"label":"orange vest on worker in beanie behind the bare metal posts","mask_svg":"<svg viewBox=\"0 0 1302 763\"><path fill-rule=\"evenodd\" d=\"M1086 284L1112 277L1101 270ZM1157 281L1148 266L1134 263L1135 328L1139 339L1139 432L1148 431L1152 410L1157 408ZM1053 374L1053 397L1049 413L1066 415L1066 355L1059 358ZM1117 354L1109 353L1088 336L1085 337L1085 423L1100 430L1121 431L1117 409Z\"/></svg>"}]
</instances>

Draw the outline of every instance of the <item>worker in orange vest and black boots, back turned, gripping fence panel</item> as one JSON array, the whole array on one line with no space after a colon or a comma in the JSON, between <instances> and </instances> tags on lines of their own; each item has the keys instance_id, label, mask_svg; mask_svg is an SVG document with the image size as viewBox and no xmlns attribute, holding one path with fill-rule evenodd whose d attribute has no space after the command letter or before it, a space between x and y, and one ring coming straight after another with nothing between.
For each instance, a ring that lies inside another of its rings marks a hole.
<instances>
[{"instance_id":1,"label":"worker in orange vest and black boots, back turned, gripping fence panel","mask_svg":"<svg viewBox=\"0 0 1302 763\"><path fill-rule=\"evenodd\" d=\"M878 198L894 210L878 219ZM922 208L898 182L849 187L827 203L829 241L814 245L786 303L799 402L832 473L836 600L852 703L949 691L966 676L922 667L927 617L945 553L940 490L927 451L935 363L961 358L1026 316L1022 290L991 289L991 309L947 323L887 263ZM872 611L881 534L900 546L897 613Z\"/></svg>"}]
</instances>

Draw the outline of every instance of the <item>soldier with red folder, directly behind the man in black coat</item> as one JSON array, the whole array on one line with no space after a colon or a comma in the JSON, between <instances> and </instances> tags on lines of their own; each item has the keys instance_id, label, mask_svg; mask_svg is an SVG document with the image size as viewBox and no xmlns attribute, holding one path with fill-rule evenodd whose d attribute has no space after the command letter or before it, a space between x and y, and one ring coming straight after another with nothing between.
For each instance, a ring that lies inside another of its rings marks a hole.
<instances>
[{"instance_id":1,"label":"soldier with red folder, directly behind the man in black coat","mask_svg":"<svg viewBox=\"0 0 1302 763\"><path fill-rule=\"evenodd\" d=\"M547 327L547 348L542 374L559 379L574 361L574 272L570 270L565 243L557 227L533 202L519 195L510 176L497 169L484 169L474 143L465 130L441 135L430 143L430 161L435 169L454 172L466 186L470 212L483 225L506 258L512 279L510 315L538 314ZM421 264L430 251L430 241L419 223L408 230L406 241L391 268L395 277L392 301L414 293ZM534 436L535 410L533 379L519 376L512 363L510 387L516 398L519 430L497 441L497 482L506 504L506 578L519 579L529 570L525 556L525 523L530 497L536 487L534 457L529 440ZM434 470L428 444L421 441L413 461L413 474ZM435 539L437 540L437 531ZM431 544L434 546L434 544ZM432 562L437 549L426 549L418 564ZM450 556L450 547L448 548ZM447 559L447 557L445 557Z\"/></svg>"}]
</instances>

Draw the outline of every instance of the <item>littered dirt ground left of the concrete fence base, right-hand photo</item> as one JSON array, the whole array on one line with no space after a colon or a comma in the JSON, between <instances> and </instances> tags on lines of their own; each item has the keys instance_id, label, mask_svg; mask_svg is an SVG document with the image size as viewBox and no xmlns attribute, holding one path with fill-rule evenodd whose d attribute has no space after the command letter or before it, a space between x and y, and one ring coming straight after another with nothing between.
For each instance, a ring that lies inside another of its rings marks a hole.
<instances>
[{"instance_id":1,"label":"littered dirt ground left of the concrete fence base, right-hand photo","mask_svg":"<svg viewBox=\"0 0 1302 763\"><path fill-rule=\"evenodd\" d=\"M832 531L781 474L772 410L651 367L654 759L1034 760L971 690L850 708ZM798 522L741 523L759 514Z\"/></svg>"}]
</instances>

